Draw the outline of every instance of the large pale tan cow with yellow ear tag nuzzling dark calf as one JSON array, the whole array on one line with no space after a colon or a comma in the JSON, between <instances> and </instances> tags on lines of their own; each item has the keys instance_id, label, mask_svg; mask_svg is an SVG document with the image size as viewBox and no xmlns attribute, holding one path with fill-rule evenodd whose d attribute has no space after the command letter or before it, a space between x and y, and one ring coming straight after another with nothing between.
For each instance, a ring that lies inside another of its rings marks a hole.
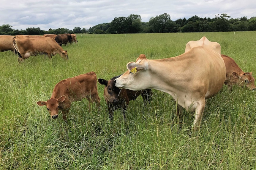
<instances>
[{"instance_id":1,"label":"large pale tan cow with yellow ear tag nuzzling dark calf","mask_svg":"<svg viewBox=\"0 0 256 170\"><path fill-rule=\"evenodd\" d=\"M200 129L205 99L215 95L224 84L226 68L220 45L206 37L188 42L190 49L180 56L149 60L141 54L127 64L128 71L115 80L116 87L129 90L153 88L169 93L181 107L195 111L193 131Z\"/></svg>"}]
</instances>

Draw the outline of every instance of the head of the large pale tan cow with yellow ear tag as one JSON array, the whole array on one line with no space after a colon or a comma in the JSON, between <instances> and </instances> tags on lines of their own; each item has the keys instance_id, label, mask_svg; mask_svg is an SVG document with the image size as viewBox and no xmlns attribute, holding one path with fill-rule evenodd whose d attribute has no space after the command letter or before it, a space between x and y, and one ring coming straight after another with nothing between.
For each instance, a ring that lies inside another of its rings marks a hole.
<instances>
[{"instance_id":1,"label":"head of the large pale tan cow with yellow ear tag","mask_svg":"<svg viewBox=\"0 0 256 170\"><path fill-rule=\"evenodd\" d=\"M128 71L115 80L116 87L134 91L151 88L147 60L144 54L140 54L136 62L129 62Z\"/></svg>"}]
</instances>

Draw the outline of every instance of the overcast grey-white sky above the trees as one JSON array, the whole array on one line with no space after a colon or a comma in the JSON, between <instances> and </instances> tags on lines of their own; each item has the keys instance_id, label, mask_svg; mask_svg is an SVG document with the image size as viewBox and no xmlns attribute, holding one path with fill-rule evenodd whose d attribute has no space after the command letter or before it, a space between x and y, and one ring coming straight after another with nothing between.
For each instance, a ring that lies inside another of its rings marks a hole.
<instances>
[{"instance_id":1,"label":"overcast grey-white sky above the trees","mask_svg":"<svg viewBox=\"0 0 256 170\"><path fill-rule=\"evenodd\" d=\"M138 14L143 22L148 22L163 13L170 14L173 21L194 15L214 18L222 13L249 19L256 17L256 0L1 0L0 26L9 24L18 30L28 27L73 30L130 14Z\"/></svg>"}]
</instances>

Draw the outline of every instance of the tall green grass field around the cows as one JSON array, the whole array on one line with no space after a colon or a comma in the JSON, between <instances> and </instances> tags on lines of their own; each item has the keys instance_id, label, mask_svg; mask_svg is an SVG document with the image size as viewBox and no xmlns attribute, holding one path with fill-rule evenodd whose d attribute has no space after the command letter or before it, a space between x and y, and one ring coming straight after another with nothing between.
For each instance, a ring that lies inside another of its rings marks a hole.
<instances>
[{"instance_id":1,"label":"tall green grass field around the cows","mask_svg":"<svg viewBox=\"0 0 256 170\"><path fill-rule=\"evenodd\" d=\"M103 85L101 111L77 101L64 122L50 119L37 101L50 98L60 80L94 71L109 80L124 73L140 54L162 59L182 54L188 41L206 36L218 42L244 72L256 75L256 32L78 35L63 46L69 60L31 56L19 64L11 51L0 53L0 169L256 169L255 94L222 90L209 99L200 132L193 114L176 123L176 104L153 90L153 101L131 101L108 119ZM200 67L200 66L199 66ZM181 125L181 130L179 127Z\"/></svg>"}]
</instances>

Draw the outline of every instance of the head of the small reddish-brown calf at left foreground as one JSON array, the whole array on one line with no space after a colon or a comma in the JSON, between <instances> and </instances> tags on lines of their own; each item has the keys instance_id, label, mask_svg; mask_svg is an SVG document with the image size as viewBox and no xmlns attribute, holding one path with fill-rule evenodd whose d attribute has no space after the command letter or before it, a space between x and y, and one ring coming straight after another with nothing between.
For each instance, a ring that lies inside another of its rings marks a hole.
<instances>
[{"instance_id":1,"label":"head of the small reddish-brown calf at left foreground","mask_svg":"<svg viewBox=\"0 0 256 170\"><path fill-rule=\"evenodd\" d=\"M50 98L48 101L38 101L37 104L39 106L45 106L52 119L58 118L59 113L59 105L61 102L65 100L66 96L61 96L60 98Z\"/></svg>"}]
</instances>

